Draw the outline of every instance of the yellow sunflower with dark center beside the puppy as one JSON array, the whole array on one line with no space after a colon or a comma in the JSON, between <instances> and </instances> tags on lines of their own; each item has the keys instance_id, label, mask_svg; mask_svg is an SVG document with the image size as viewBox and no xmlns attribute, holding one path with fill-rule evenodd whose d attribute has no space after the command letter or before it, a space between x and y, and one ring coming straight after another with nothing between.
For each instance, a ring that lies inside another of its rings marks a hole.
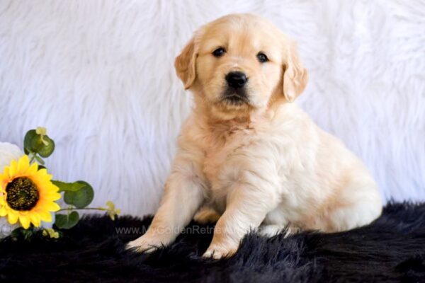
<instances>
[{"instance_id":1,"label":"yellow sunflower with dark center beside the puppy","mask_svg":"<svg viewBox=\"0 0 425 283\"><path fill-rule=\"evenodd\" d=\"M60 209L55 200L60 199L59 188L50 181L52 175L46 169L38 170L38 164L30 165L28 156L11 161L0 174L0 216L8 216L10 224L18 220L23 228L40 221L52 221L50 212Z\"/></svg>"}]
</instances>

